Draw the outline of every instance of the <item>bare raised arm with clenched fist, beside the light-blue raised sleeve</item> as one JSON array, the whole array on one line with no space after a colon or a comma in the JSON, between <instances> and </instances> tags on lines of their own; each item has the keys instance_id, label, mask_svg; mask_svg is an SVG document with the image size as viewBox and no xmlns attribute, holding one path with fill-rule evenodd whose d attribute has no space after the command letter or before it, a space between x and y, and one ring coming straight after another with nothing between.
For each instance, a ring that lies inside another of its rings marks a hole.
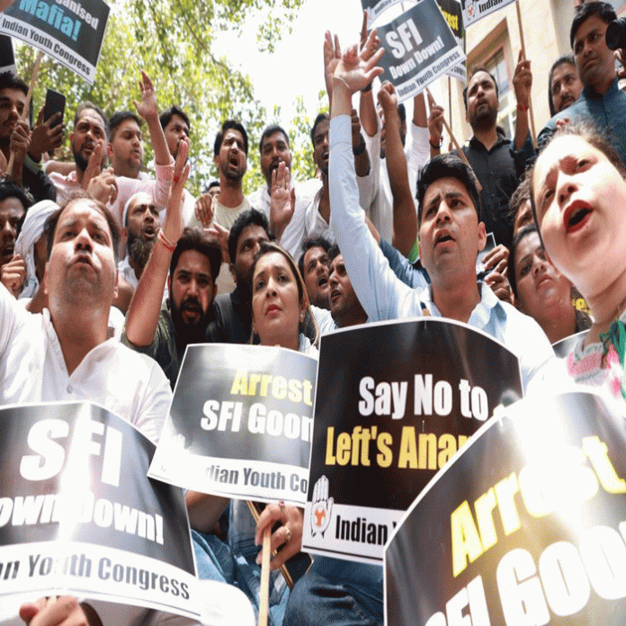
<instances>
[{"instance_id":1,"label":"bare raised arm with clenched fist, beside the light-blue raised sleeve","mask_svg":"<svg viewBox=\"0 0 626 626\"><path fill-rule=\"evenodd\" d=\"M408 184L407 157L400 137L398 94L389 81L380 88L379 102L385 113L387 128L387 173L393 196L393 245L407 256L417 237L416 203Z\"/></svg>"}]
</instances>

